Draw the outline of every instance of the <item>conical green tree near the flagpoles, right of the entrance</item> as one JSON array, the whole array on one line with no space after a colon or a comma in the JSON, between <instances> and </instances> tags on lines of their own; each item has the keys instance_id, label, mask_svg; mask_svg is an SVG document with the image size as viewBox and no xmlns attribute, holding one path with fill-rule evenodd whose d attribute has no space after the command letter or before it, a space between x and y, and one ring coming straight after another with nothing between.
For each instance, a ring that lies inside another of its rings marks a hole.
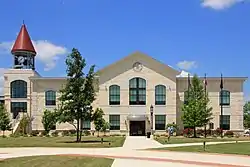
<instances>
[{"instance_id":1,"label":"conical green tree near the flagpoles, right of the entrance","mask_svg":"<svg viewBox=\"0 0 250 167\"><path fill-rule=\"evenodd\" d=\"M186 93L188 96L186 103L182 106L182 120L185 126L193 127L194 137L197 137L196 127L202 127L212 119L212 108L208 107L209 98L197 75L192 78L192 84Z\"/></svg>"}]
</instances>

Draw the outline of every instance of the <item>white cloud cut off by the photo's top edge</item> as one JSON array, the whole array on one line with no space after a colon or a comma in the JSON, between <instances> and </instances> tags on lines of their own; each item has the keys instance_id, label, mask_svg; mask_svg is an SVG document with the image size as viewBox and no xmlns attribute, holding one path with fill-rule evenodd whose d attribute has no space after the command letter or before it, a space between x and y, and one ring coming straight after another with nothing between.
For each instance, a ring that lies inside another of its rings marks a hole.
<instances>
[{"instance_id":1,"label":"white cloud cut off by the photo's top edge","mask_svg":"<svg viewBox=\"0 0 250 167\"><path fill-rule=\"evenodd\" d=\"M244 2L245 0L202 0L203 7L209 7L215 10L229 8L236 3Z\"/></svg>"}]
</instances>

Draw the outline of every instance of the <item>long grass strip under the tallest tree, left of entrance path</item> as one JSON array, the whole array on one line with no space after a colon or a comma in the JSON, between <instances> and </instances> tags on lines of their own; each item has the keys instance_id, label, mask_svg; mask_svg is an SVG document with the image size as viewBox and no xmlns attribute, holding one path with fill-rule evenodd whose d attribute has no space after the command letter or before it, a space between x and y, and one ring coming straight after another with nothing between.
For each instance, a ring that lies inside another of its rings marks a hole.
<instances>
[{"instance_id":1,"label":"long grass strip under the tallest tree, left of entrance path","mask_svg":"<svg viewBox=\"0 0 250 167\"><path fill-rule=\"evenodd\" d=\"M104 148L104 147L121 147L125 141L125 137L113 136L101 137L84 136L81 143L75 142L75 136L65 137L0 137L0 147L88 147L88 148ZM110 145L109 145L110 143Z\"/></svg>"}]
</instances>

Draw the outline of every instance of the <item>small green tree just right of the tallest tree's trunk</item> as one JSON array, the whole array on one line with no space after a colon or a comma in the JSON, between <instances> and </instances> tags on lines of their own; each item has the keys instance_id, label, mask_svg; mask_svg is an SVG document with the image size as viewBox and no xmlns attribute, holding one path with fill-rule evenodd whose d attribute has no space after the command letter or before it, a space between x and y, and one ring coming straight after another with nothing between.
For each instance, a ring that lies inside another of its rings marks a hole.
<instances>
[{"instance_id":1,"label":"small green tree just right of the tallest tree's trunk","mask_svg":"<svg viewBox=\"0 0 250 167\"><path fill-rule=\"evenodd\" d=\"M104 112L101 108L97 108L93 114L93 120L95 125L95 130L97 131L97 136L99 137L99 132L103 129L105 125L105 120L103 118Z\"/></svg>"}]
</instances>

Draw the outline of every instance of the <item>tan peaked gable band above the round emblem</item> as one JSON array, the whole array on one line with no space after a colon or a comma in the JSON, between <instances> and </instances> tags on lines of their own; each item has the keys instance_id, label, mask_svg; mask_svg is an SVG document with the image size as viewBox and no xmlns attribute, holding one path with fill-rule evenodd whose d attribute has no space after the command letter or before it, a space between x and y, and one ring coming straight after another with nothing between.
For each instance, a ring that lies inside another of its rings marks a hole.
<instances>
[{"instance_id":1,"label":"tan peaked gable band above the round emblem","mask_svg":"<svg viewBox=\"0 0 250 167\"><path fill-rule=\"evenodd\" d=\"M118 76L123 72L130 70L132 68L132 65L136 62L142 63L144 66L165 77L168 77L173 81L176 80L176 75L180 74L179 71L169 67L168 65L159 62L158 60L148 56L147 54L137 51L97 71L97 74L100 76L100 83L104 83L107 80L110 80L115 76Z\"/></svg>"}]
</instances>

